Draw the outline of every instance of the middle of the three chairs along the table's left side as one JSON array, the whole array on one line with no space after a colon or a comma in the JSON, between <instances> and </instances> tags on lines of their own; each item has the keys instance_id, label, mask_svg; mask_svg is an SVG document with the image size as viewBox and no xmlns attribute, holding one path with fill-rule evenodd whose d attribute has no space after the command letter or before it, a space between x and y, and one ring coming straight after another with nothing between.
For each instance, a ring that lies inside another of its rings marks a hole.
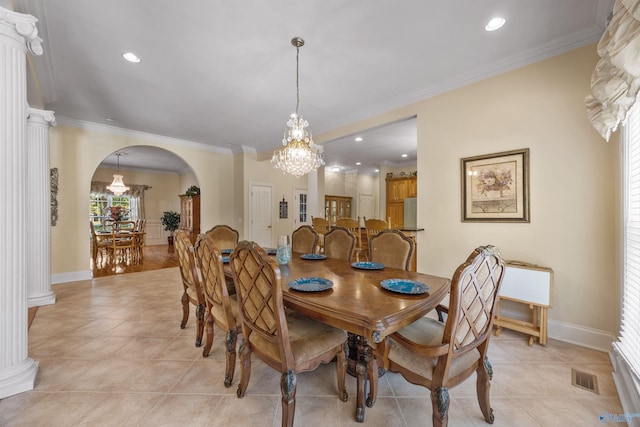
<instances>
[{"instance_id":1,"label":"middle of the three chairs along the table's left side","mask_svg":"<svg viewBox=\"0 0 640 427\"><path fill-rule=\"evenodd\" d=\"M207 307L204 324L206 341L202 349L202 357L209 356L213 344L213 324L225 333L226 370L224 386L231 387L236 366L236 341L240 332L238 301L229 297L225 280L222 254L210 234L200 234L194 247L196 261L202 279L202 293Z\"/></svg>"}]
</instances>

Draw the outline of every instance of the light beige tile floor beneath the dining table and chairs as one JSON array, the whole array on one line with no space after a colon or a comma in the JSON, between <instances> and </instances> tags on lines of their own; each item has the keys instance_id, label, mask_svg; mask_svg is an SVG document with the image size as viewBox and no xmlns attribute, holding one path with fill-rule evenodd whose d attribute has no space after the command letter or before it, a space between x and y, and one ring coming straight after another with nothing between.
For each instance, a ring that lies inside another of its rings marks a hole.
<instances>
[{"instance_id":1,"label":"light beige tile floor beneath the dining table and chairs","mask_svg":"<svg viewBox=\"0 0 640 427\"><path fill-rule=\"evenodd\" d=\"M223 385L223 334L208 358L194 346L193 310L180 329L177 268L53 286L57 302L41 307L29 333L39 361L35 389L0 401L0 426L278 426L280 375L254 358L249 388L236 397ZM549 340L527 345L505 331L493 337L491 402L495 426L599 425L621 414L606 353ZM571 368L596 374L600 394L571 385ZM349 400L337 398L335 365L298 375L295 424L355 422L355 379ZM475 377L451 390L451 426L485 426ZM431 425L429 392L387 373L367 408L365 425Z\"/></svg>"}]
</instances>

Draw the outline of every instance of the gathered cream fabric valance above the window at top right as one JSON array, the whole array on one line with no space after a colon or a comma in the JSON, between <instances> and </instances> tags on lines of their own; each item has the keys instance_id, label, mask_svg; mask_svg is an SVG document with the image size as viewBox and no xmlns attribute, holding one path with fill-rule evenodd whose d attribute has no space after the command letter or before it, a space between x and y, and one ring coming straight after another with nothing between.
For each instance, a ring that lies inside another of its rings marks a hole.
<instances>
[{"instance_id":1,"label":"gathered cream fabric valance above the window at top right","mask_svg":"<svg viewBox=\"0 0 640 427\"><path fill-rule=\"evenodd\" d=\"M627 117L640 89L640 0L617 0L598 43L600 61L585 99L587 116L607 141Z\"/></svg>"}]
</instances>

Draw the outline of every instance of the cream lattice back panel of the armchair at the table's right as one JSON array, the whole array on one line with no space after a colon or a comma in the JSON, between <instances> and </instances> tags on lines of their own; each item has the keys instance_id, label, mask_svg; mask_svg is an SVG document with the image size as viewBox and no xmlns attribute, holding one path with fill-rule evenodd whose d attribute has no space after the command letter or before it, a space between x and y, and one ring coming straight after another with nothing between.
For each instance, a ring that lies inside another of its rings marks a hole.
<instances>
[{"instance_id":1,"label":"cream lattice back panel of the armchair at the table's right","mask_svg":"<svg viewBox=\"0 0 640 427\"><path fill-rule=\"evenodd\" d=\"M493 246L476 249L456 270L451 285L444 340L453 353L466 352L490 334L504 261Z\"/></svg>"}]
</instances>

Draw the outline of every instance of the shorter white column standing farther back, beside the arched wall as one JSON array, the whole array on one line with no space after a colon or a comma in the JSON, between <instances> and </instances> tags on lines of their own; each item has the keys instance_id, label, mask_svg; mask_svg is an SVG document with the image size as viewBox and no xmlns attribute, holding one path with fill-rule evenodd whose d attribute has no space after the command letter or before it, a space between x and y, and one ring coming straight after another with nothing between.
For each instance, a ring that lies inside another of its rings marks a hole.
<instances>
[{"instance_id":1,"label":"shorter white column standing farther back, beside the arched wall","mask_svg":"<svg viewBox=\"0 0 640 427\"><path fill-rule=\"evenodd\" d=\"M49 127L53 111L29 108L27 118L27 305L54 304L51 291L51 178Z\"/></svg>"}]
</instances>

